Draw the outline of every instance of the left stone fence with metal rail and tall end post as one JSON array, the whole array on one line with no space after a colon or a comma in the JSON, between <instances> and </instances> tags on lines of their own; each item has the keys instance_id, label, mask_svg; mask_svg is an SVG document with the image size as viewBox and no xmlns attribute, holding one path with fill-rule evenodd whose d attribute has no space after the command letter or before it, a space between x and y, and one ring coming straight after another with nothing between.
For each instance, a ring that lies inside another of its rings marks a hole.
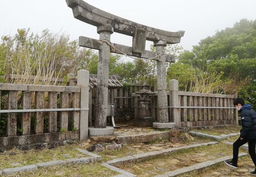
<instances>
[{"instance_id":1,"label":"left stone fence with metal rail and tall end post","mask_svg":"<svg viewBox=\"0 0 256 177\"><path fill-rule=\"evenodd\" d=\"M78 71L76 87L0 83L0 150L56 147L88 137L89 72ZM19 127L19 129L17 129Z\"/></svg>"}]
</instances>

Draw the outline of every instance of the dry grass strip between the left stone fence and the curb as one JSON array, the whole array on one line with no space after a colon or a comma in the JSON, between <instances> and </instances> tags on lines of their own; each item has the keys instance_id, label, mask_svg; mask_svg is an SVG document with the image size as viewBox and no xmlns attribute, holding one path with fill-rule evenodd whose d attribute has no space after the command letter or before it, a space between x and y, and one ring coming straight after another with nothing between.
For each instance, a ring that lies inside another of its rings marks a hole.
<instances>
[{"instance_id":1,"label":"dry grass strip between the left stone fence and the curb","mask_svg":"<svg viewBox=\"0 0 256 177\"><path fill-rule=\"evenodd\" d=\"M6 151L5 153L0 153L0 169L14 167L11 166L12 163L20 163L18 166L25 166L51 160L65 160L69 158L87 156L75 150L75 147L76 144L42 150L31 149L27 151L21 151L19 149L12 149ZM63 154L69 155L69 158L63 157Z\"/></svg>"}]
</instances>

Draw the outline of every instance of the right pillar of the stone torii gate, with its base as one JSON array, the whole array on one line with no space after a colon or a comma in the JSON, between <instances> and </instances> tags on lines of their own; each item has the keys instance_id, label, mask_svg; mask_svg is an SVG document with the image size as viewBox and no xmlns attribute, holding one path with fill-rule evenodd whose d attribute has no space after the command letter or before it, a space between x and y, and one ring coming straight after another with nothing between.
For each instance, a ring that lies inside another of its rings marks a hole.
<instances>
[{"instance_id":1,"label":"right pillar of the stone torii gate, with its base","mask_svg":"<svg viewBox=\"0 0 256 177\"><path fill-rule=\"evenodd\" d=\"M167 42L160 40L154 42L156 52L164 53ZM161 55L156 61L157 67L157 84L158 84L158 122L153 124L154 128L173 128L173 124L169 123L168 101L167 101L167 83L166 83L166 55ZM165 124L165 125L164 125Z\"/></svg>"}]
</instances>

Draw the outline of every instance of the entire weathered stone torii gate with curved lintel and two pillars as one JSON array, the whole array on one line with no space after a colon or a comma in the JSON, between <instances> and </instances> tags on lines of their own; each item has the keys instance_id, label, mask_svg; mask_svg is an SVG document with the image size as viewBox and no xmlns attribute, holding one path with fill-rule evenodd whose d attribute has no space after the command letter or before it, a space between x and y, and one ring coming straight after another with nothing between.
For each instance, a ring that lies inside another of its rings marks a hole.
<instances>
[{"instance_id":1,"label":"entire weathered stone torii gate with curved lintel and two pillars","mask_svg":"<svg viewBox=\"0 0 256 177\"><path fill-rule=\"evenodd\" d=\"M154 122L153 127L174 127L175 118L171 118L173 122L169 122L168 117L165 62L174 63L175 57L173 55L165 55L164 50L167 44L179 43L185 31L170 32L138 24L102 11L82 0L66 0L66 2L67 6L72 8L74 18L96 26L97 33L100 34L100 40L79 37L79 46L99 50L95 126L89 127L89 135L113 134L113 127L106 127L109 52L156 60L158 122ZM132 47L111 43L110 36L113 32L132 36ZM145 50L146 40L154 42L156 52ZM179 125L176 124L175 126L178 127Z\"/></svg>"}]
</instances>

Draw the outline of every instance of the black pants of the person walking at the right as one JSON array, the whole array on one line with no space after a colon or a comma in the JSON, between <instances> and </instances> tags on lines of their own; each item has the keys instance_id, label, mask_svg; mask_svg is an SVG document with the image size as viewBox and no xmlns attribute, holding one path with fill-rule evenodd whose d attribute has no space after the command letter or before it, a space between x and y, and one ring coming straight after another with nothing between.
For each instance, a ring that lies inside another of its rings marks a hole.
<instances>
[{"instance_id":1,"label":"black pants of the person walking at the right","mask_svg":"<svg viewBox=\"0 0 256 177\"><path fill-rule=\"evenodd\" d=\"M244 138L243 140L241 140L239 137L236 140L236 142L234 142L234 144L233 144L233 162L237 164L239 147L244 145L247 142L248 142L248 146L249 146L250 157L252 158L252 162L256 166L256 154L255 154L256 139Z\"/></svg>"}]
</instances>

